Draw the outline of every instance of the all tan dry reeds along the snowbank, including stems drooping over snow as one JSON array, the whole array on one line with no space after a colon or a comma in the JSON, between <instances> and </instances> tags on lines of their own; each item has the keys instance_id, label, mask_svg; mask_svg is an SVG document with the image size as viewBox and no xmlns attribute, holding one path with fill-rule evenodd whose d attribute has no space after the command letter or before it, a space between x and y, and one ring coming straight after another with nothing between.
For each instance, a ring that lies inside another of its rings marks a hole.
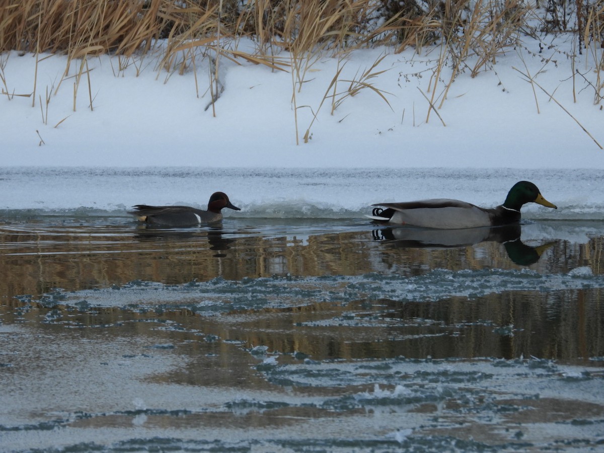
<instances>
[{"instance_id":1,"label":"all tan dry reeds along the snowbank, including stems drooping over snow","mask_svg":"<svg viewBox=\"0 0 604 453\"><path fill-rule=\"evenodd\" d=\"M574 7L578 8L577 18L581 18L579 47L585 43L596 66L594 101L600 103L604 97L604 6L596 2L588 9L577 0ZM344 82L339 75L350 51L386 44L396 52L408 47L420 52L427 46L442 44L432 69L431 94L422 92L429 103L428 121L432 110L442 108L459 74L469 71L475 77L490 69L501 53L517 45L522 33L532 33L528 23L535 17L533 13L522 0L0 0L0 53L30 52L36 54L36 61L43 53L65 53L68 59L63 80L69 78L71 62L79 60L74 111L84 74L89 108L93 108L88 59L97 54L116 55L117 74L132 64L137 66L138 74L144 56L150 51L159 52L159 59L154 60L159 61L156 69L165 70L165 80L176 72L194 70L198 60L208 59L208 108L212 106L214 114L222 90L221 58L288 70L292 74L298 143L298 109L310 106L298 106L297 93L309 82L312 66L326 54L338 57L338 69L318 108L311 108L310 126L326 99L331 100L332 114L345 98L361 89L375 92L388 103L385 92L371 83L381 72L377 65L348 80L345 91L338 91L338 84ZM542 18L542 29L548 28L547 20ZM242 37L255 43L254 51L237 48ZM283 50L288 52L287 57L275 57ZM445 68L450 69L446 80ZM527 74L527 78L534 82L534 76ZM0 83L2 94L11 98L1 61ZM195 84L199 95L197 76ZM31 97L34 104L35 86ZM47 114L43 117L48 121Z\"/></svg>"}]
</instances>

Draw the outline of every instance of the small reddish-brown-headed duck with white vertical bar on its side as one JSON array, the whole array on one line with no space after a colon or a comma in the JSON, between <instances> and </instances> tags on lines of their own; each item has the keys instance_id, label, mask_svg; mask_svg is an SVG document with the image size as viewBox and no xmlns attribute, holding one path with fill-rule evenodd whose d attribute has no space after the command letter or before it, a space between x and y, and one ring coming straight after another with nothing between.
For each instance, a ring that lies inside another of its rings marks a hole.
<instances>
[{"instance_id":1,"label":"small reddish-brown-headed duck with white vertical bar on its side","mask_svg":"<svg viewBox=\"0 0 604 453\"><path fill-rule=\"evenodd\" d=\"M208 201L208 210L191 208L189 206L148 206L135 205L129 214L136 216L140 222L156 226L198 226L206 223L216 223L222 220L222 208L240 211L234 206L223 192L213 193Z\"/></svg>"}]
</instances>

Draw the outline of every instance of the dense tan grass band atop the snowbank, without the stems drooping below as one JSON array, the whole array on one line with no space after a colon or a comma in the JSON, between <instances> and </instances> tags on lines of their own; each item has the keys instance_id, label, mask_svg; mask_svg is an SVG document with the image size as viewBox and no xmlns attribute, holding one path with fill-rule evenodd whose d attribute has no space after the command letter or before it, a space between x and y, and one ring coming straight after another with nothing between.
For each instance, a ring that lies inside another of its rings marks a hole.
<instances>
[{"instance_id":1,"label":"dense tan grass band atop the snowbank, without the stems drooping below","mask_svg":"<svg viewBox=\"0 0 604 453\"><path fill-rule=\"evenodd\" d=\"M165 39L163 65L173 69L190 64L193 51L243 36L257 43L260 62L281 50L419 50L446 40L460 58L475 51L486 61L524 25L525 12L519 0L0 0L0 51L129 57ZM304 68L295 70L300 84Z\"/></svg>"}]
</instances>

